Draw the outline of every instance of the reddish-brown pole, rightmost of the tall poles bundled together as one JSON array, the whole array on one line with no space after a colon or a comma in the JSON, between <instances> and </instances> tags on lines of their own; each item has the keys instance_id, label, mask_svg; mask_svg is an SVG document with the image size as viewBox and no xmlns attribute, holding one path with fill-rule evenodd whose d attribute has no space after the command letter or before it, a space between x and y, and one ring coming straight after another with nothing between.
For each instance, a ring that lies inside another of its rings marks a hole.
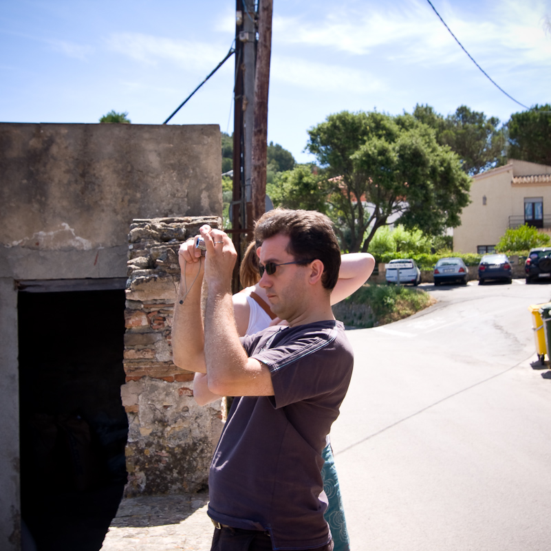
<instances>
[{"instance_id":1,"label":"reddish-brown pole, rightmost of the tall poles bundled together","mask_svg":"<svg viewBox=\"0 0 551 551\"><path fill-rule=\"evenodd\" d=\"M259 0L255 122L252 143L252 219L266 210L266 155L268 151L268 87L272 53L272 0Z\"/></svg>"}]
</instances>

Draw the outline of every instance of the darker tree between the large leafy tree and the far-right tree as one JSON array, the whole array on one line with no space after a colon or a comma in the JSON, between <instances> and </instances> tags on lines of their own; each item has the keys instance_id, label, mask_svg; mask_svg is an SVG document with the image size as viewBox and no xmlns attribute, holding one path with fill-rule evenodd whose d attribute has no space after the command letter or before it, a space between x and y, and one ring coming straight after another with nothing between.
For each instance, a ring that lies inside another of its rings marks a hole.
<instances>
[{"instance_id":1,"label":"darker tree between the large leafy tree and the far-right tree","mask_svg":"<svg viewBox=\"0 0 551 551\"><path fill-rule=\"evenodd\" d=\"M499 127L499 118L486 118L482 111L472 111L466 105L446 118L429 105L416 105L413 116L434 129L439 144L449 145L460 156L468 175L505 164L506 133Z\"/></svg>"}]
</instances>

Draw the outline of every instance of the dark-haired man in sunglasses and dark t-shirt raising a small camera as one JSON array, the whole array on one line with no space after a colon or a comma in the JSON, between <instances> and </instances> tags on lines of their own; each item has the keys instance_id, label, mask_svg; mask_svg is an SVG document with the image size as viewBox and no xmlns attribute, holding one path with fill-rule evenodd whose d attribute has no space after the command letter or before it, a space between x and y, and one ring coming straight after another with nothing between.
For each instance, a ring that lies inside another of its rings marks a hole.
<instances>
[{"instance_id":1,"label":"dark-haired man in sunglasses and dark t-shirt raising a small camera","mask_svg":"<svg viewBox=\"0 0 551 551\"><path fill-rule=\"evenodd\" d=\"M241 340L231 293L237 254L221 230L199 231L204 260L191 242L180 249L174 362L206 373L219 396L241 397L233 401L210 466L213 550L329 551L321 452L353 365L330 305L341 263L331 222L314 211L284 209L259 219L259 285L289 325Z\"/></svg>"}]
</instances>

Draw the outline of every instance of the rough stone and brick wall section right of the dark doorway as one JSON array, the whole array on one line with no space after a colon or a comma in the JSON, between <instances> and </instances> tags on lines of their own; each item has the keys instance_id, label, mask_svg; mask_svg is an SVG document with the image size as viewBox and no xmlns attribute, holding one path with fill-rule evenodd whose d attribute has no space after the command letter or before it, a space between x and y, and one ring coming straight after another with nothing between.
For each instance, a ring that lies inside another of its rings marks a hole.
<instances>
[{"instance_id":1,"label":"rough stone and brick wall section right of the dark doorway","mask_svg":"<svg viewBox=\"0 0 551 551\"><path fill-rule=\"evenodd\" d=\"M199 407L193 373L172 362L171 326L180 279L177 251L218 217L134 220L129 233L122 404L129 435L125 495L195 492L222 431L221 402Z\"/></svg>"}]
</instances>

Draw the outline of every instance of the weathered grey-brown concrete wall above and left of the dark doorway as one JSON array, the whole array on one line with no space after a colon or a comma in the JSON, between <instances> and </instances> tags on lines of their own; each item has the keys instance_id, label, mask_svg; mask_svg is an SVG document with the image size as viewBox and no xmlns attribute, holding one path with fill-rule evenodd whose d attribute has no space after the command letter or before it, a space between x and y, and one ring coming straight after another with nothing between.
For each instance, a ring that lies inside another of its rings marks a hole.
<instances>
[{"instance_id":1,"label":"weathered grey-brown concrete wall above and left of the dark doorway","mask_svg":"<svg viewBox=\"0 0 551 551\"><path fill-rule=\"evenodd\" d=\"M1 549L20 540L16 281L125 279L132 220L221 216L221 172L215 125L0 124Z\"/></svg>"}]
</instances>

